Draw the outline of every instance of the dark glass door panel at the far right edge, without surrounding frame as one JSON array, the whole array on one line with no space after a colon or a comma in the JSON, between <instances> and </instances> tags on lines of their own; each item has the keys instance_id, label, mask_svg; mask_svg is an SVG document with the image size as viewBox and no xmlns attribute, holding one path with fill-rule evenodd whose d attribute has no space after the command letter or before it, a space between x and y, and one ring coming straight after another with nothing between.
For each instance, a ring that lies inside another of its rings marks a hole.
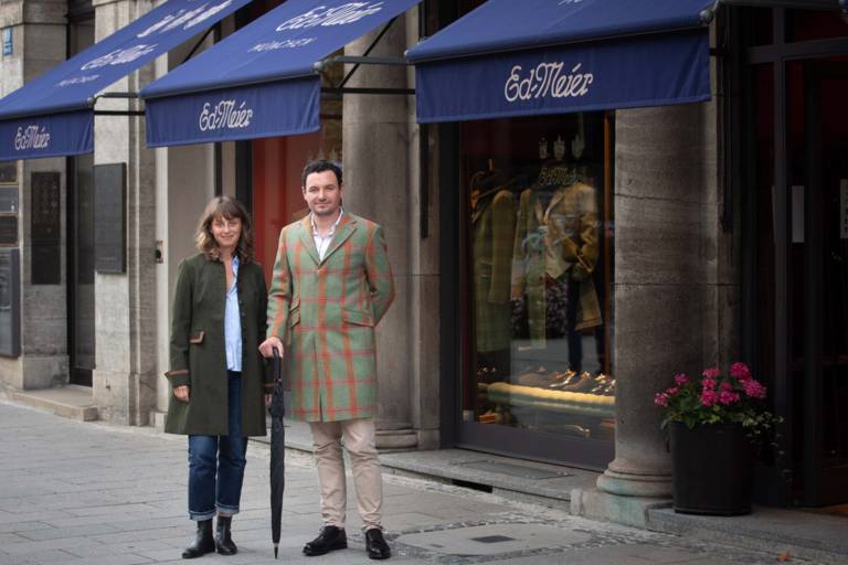
<instances>
[{"instance_id":1,"label":"dark glass door panel at the far right edge, without surrounding frame","mask_svg":"<svg viewBox=\"0 0 848 565\"><path fill-rule=\"evenodd\" d=\"M788 65L795 500L848 501L848 57Z\"/></svg>"}]
</instances>

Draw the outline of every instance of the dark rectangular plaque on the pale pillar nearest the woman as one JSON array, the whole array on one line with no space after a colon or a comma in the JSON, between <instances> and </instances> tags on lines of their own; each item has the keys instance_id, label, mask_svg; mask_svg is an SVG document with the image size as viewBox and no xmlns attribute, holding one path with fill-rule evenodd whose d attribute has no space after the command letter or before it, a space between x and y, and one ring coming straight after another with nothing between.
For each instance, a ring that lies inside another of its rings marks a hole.
<instances>
[{"instance_id":1,"label":"dark rectangular plaque on the pale pillar nearest the woman","mask_svg":"<svg viewBox=\"0 0 848 565\"><path fill-rule=\"evenodd\" d=\"M124 273L127 265L127 166L94 167L94 268Z\"/></svg>"}]
</instances>

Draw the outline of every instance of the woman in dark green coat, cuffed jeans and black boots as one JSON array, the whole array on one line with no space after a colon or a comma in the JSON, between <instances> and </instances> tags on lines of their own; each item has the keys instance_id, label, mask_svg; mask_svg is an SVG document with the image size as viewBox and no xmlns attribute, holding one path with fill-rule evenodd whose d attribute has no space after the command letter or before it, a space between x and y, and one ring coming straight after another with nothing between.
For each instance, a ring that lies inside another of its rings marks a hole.
<instances>
[{"instance_id":1,"label":"woman in dark green coat, cuffed jeans and black boots","mask_svg":"<svg viewBox=\"0 0 848 565\"><path fill-rule=\"evenodd\" d=\"M173 395L165 429L189 436L189 518L198 522L183 558L215 548L236 553L231 521L242 495L246 436L265 435L273 386L257 351L267 289L244 206L229 196L213 199L200 217L197 247L200 253L177 273L166 373Z\"/></svg>"}]
</instances>

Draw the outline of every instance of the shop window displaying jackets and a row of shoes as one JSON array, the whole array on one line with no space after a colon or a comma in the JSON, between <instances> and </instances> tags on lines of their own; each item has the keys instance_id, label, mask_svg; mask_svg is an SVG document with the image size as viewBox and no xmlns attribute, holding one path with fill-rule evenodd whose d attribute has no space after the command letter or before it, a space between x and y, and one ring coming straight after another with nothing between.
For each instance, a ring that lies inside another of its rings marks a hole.
<instances>
[{"instance_id":1,"label":"shop window displaying jackets and a row of shoes","mask_svg":"<svg viewBox=\"0 0 848 565\"><path fill-rule=\"evenodd\" d=\"M465 422L613 438L611 120L462 126Z\"/></svg>"}]
</instances>

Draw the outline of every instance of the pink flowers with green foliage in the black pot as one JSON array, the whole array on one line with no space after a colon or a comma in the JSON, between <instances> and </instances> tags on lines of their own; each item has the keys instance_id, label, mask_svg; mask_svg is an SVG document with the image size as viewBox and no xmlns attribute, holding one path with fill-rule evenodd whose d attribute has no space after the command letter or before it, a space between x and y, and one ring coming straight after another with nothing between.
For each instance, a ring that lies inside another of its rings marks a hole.
<instances>
[{"instance_id":1,"label":"pink flowers with green foliage in the black pot","mask_svg":"<svg viewBox=\"0 0 848 565\"><path fill-rule=\"evenodd\" d=\"M765 386L751 375L744 363L733 363L727 374L719 367L706 369L700 379L685 373L675 384L658 393L654 404L665 412L662 428L680 422L689 429L711 424L740 424L754 441L775 437L775 424L783 419L765 409Z\"/></svg>"}]
</instances>

